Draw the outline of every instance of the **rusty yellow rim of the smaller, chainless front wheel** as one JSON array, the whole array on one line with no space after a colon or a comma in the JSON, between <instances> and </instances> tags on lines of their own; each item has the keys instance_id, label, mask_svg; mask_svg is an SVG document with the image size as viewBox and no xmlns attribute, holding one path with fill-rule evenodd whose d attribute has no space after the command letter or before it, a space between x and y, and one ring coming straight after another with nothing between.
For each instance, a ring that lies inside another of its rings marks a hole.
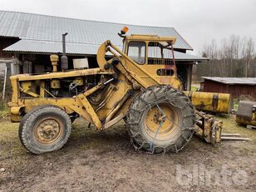
<instances>
[{"instance_id":1,"label":"rusty yellow rim of the smaller, chainless front wheel","mask_svg":"<svg viewBox=\"0 0 256 192\"><path fill-rule=\"evenodd\" d=\"M49 145L58 140L63 133L63 123L57 118L47 117L37 122L33 134L37 142Z\"/></svg>"}]
</instances>

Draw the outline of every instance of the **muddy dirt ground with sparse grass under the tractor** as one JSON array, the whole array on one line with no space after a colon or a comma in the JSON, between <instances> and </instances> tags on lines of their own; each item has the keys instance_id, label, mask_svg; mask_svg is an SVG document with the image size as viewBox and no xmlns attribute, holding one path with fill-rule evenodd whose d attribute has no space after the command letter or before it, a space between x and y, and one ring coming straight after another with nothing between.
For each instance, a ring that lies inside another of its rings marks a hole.
<instances>
[{"instance_id":1,"label":"muddy dirt ground with sparse grass under the tractor","mask_svg":"<svg viewBox=\"0 0 256 192\"><path fill-rule=\"evenodd\" d=\"M97 132L77 120L62 150L32 155L18 124L2 119L0 191L256 191L256 130L218 118L253 140L213 146L194 136L178 154L150 155L133 149L123 124Z\"/></svg>"}]
</instances>

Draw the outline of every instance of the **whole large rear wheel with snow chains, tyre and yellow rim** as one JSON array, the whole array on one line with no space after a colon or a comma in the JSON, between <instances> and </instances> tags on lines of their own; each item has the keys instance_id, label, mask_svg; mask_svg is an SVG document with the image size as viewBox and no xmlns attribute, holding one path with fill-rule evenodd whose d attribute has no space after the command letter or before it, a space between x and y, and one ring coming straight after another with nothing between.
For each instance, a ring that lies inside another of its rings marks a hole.
<instances>
[{"instance_id":1,"label":"whole large rear wheel with snow chains, tyre and yellow rim","mask_svg":"<svg viewBox=\"0 0 256 192\"><path fill-rule=\"evenodd\" d=\"M194 134L194 106L171 86L150 86L130 103L126 121L135 150L179 152Z\"/></svg>"}]
</instances>

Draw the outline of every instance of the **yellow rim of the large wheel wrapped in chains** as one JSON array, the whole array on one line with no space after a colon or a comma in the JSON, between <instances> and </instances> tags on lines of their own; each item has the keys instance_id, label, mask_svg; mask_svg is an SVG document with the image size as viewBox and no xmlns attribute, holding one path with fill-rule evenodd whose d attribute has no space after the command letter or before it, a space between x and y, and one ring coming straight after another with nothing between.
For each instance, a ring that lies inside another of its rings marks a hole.
<instances>
[{"instance_id":1,"label":"yellow rim of the large wheel wrapped in chains","mask_svg":"<svg viewBox=\"0 0 256 192\"><path fill-rule=\"evenodd\" d=\"M180 130L179 111L170 103L162 103L146 111L144 120L145 132L153 140L168 140Z\"/></svg>"}]
</instances>

